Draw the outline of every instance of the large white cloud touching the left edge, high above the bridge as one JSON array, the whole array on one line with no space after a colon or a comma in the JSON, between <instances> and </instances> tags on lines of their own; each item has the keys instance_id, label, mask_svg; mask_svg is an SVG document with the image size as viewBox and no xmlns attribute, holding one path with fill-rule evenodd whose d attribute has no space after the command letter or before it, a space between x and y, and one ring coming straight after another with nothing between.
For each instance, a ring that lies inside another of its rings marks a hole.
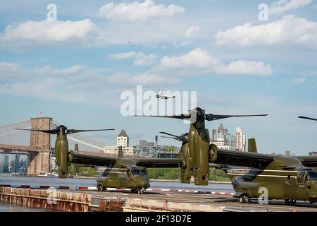
<instances>
[{"instance_id":1,"label":"large white cloud touching the left edge, high above the bridge","mask_svg":"<svg viewBox=\"0 0 317 226\"><path fill-rule=\"evenodd\" d=\"M89 19L77 21L27 21L8 25L0 34L0 46L33 46L47 44L74 44L91 40L97 32Z\"/></svg>"}]
</instances>

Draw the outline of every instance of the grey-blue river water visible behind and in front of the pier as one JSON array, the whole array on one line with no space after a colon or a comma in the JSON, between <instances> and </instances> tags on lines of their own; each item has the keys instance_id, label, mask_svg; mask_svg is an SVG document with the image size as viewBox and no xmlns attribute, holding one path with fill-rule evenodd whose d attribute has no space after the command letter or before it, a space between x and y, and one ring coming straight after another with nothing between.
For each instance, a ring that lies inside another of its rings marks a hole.
<instances>
[{"instance_id":1,"label":"grey-blue river water visible behind and in front of the pier","mask_svg":"<svg viewBox=\"0 0 317 226\"><path fill-rule=\"evenodd\" d=\"M0 184L10 184L20 187L21 185L39 186L69 186L75 189L78 186L96 186L96 179L59 179L58 177L19 177L9 174L0 174ZM196 186L194 184L181 184L180 182L151 182L151 189L194 189L198 191L234 192L231 184L209 183L208 186ZM0 211L46 211L34 208L23 208L20 206L0 203Z\"/></svg>"}]
</instances>

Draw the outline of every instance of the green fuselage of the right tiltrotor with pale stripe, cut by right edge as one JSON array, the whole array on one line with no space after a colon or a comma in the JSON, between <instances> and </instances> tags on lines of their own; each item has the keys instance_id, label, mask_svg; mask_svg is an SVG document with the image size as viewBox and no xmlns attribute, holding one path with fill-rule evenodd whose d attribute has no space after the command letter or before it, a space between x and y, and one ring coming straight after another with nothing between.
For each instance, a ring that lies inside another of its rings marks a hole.
<instances>
[{"instance_id":1,"label":"green fuselage of the right tiltrotor with pale stripe, cut by right edge","mask_svg":"<svg viewBox=\"0 0 317 226\"><path fill-rule=\"evenodd\" d=\"M286 162L294 167L287 169ZM232 180L235 197L317 201L317 172L295 157L277 156L262 169L230 165L222 169Z\"/></svg>"}]
</instances>

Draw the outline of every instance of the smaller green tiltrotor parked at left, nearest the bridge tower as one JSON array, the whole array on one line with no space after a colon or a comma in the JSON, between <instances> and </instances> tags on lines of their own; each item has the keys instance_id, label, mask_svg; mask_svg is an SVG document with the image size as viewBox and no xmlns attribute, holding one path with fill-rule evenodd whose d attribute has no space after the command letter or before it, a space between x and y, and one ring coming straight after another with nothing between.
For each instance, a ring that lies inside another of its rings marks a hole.
<instances>
[{"instance_id":1,"label":"smaller green tiltrotor parked at left, nearest the bridge tower","mask_svg":"<svg viewBox=\"0 0 317 226\"><path fill-rule=\"evenodd\" d=\"M68 134L88 131L109 131L113 129L75 130L67 129L66 126L61 125L51 130L18 130L56 134L55 154L59 177L62 179L68 177L68 166L70 163L75 165L75 172L78 171L79 166L95 167L98 173L97 189L99 191L105 188L124 188L142 194L150 186L147 168L180 167L182 162L179 158L124 158L122 147L119 148L118 157L105 157L104 155L98 155L98 153L94 153L93 155L80 154L77 144L75 145L75 151L68 149Z\"/></svg>"}]
</instances>

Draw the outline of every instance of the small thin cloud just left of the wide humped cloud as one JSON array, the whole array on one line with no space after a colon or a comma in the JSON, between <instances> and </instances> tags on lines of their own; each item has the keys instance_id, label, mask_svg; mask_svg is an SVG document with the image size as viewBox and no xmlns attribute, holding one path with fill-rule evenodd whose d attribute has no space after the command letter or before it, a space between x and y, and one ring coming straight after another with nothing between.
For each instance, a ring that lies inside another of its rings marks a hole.
<instances>
[{"instance_id":1,"label":"small thin cloud just left of the wide humped cloud","mask_svg":"<svg viewBox=\"0 0 317 226\"><path fill-rule=\"evenodd\" d=\"M119 53L119 54L112 54L109 55L111 59L130 59L133 58L135 61L133 61L133 64L135 66L149 66L151 64L154 64L154 60L156 59L155 54L149 54L146 55L143 52L125 52L125 53Z\"/></svg>"}]
</instances>

